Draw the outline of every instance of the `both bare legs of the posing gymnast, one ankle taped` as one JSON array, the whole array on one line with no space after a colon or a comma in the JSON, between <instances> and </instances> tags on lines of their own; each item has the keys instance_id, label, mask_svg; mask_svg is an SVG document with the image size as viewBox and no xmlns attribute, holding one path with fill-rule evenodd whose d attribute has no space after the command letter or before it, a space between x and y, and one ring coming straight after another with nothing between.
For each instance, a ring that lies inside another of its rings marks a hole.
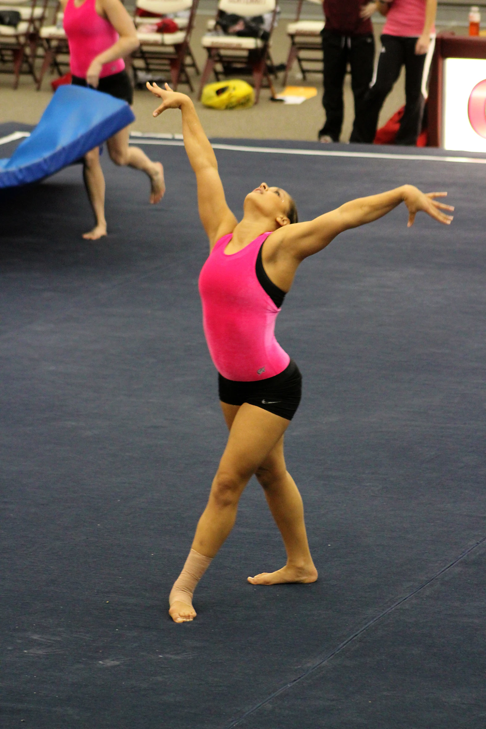
<instances>
[{"instance_id":1,"label":"both bare legs of the posing gymnast, one ankle taped","mask_svg":"<svg viewBox=\"0 0 486 729\"><path fill-rule=\"evenodd\" d=\"M315 582L318 576L307 544L302 499L283 461L283 433L290 421L246 402L240 407L222 402L222 409L230 435L189 557L169 596L169 614L176 623L196 617L192 607L195 586L230 534L240 496L255 473L264 487L288 558L278 572L248 577L248 581L254 585Z\"/></svg>"}]
</instances>

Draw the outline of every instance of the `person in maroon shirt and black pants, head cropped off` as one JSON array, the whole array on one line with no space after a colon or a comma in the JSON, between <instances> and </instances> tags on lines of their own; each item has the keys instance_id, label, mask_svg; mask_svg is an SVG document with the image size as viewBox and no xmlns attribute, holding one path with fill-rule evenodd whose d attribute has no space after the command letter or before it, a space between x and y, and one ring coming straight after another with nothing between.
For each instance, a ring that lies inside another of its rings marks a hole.
<instances>
[{"instance_id":1,"label":"person in maroon shirt and black pants, head cropped off","mask_svg":"<svg viewBox=\"0 0 486 729\"><path fill-rule=\"evenodd\" d=\"M348 63L354 115L359 120L364 96L373 77L375 37L370 17L375 2L363 0L324 0L326 24L322 31L324 52L324 95L326 123L319 130L320 141L339 141L342 128L342 85Z\"/></svg>"}]
</instances>

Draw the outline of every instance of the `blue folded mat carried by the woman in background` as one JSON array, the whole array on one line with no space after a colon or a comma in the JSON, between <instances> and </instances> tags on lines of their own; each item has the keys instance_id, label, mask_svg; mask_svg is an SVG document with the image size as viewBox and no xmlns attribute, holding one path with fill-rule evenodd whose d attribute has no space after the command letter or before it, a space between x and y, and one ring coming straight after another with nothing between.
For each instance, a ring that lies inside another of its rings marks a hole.
<instances>
[{"instance_id":1,"label":"blue folded mat carried by the woman in background","mask_svg":"<svg viewBox=\"0 0 486 729\"><path fill-rule=\"evenodd\" d=\"M134 119L126 101L83 86L60 86L31 136L0 160L0 187L54 174Z\"/></svg>"}]
</instances>

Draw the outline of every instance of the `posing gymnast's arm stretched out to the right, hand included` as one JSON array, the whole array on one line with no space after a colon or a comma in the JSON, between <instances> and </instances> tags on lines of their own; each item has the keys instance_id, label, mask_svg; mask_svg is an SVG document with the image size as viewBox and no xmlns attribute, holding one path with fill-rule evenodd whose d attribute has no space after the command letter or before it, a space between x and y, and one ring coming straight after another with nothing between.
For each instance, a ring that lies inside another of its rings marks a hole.
<instances>
[{"instance_id":1,"label":"posing gymnast's arm stretched out to the right, hand included","mask_svg":"<svg viewBox=\"0 0 486 729\"><path fill-rule=\"evenodd\" d=\"M309 222L286 225L281 229L282 247L298 261L304 260L324 249L336 235L353 227L366 225L405 203L409 211L408 226L413 225L415 215L423 211L435 220L450 225L452 215L442 210L454 210L450 205L438 203L434 198L443 198L447 192L424 193L413 185L405 184L395 190L358 198L320 215Z\"/></svg>"}]
</instances>

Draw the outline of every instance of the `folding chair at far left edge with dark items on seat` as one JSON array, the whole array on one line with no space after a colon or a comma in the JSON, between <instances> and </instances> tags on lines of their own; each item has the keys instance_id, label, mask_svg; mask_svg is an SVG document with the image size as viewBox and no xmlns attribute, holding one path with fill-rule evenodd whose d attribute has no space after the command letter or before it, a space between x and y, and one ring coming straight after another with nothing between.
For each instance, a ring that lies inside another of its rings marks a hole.
<instances>
[{"instance_id":1,"label":"folding chair at far left edge with dark items on seat","mask_svg":"<svg viewBox=\"0 0 486 729\"><path fill-rule=\"evenodd\" d=\"M37 0L20 4L7 4L0 0L0 9L14 10L20 15L17 26L0 25L0 72L14 75L14 88L19 83L20 74L30 74L36 82L34 62L39 28L47 7L47 0Z\"/></svg>"}]
</instances>

